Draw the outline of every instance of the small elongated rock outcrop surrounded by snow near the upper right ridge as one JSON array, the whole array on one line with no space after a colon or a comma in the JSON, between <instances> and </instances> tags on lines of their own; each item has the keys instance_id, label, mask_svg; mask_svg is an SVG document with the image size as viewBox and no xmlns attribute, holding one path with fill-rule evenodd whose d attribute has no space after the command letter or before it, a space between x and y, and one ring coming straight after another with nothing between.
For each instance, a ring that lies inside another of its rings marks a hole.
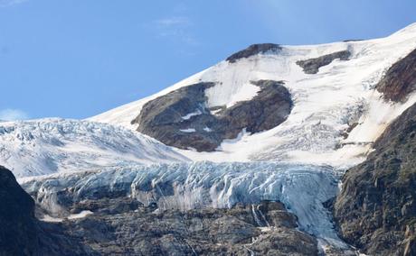
<instances>
[{"instance_id":1,"label":"small elongated rock outcrop surrounded by snow near the upper right ridge","mask_svg":"<svg viewBox=\"0 0 416 256\"><path fill-rule=\"evenodd\" d=\"M307 74L317 74L319 68L331 64L334 59L348 60L350 56L349 50L340 50L314 59L298 60L296 64Z\"/></svg>"}]
</instances>

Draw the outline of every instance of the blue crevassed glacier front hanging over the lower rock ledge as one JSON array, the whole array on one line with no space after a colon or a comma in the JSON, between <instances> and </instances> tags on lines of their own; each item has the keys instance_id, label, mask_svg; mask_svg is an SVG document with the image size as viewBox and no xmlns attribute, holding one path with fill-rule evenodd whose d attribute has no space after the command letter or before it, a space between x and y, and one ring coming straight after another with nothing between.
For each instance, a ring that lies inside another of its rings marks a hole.
<instances>
[{"instance_id":1,"label":"blue crevassed glacier front hanging over the lower rock ledge","mask_svg":"<svg viewBox=\"0 0 416 256\"><path fill-rule=\"evenodd\" d=\"M156 204L159 210L280 201L298 216L300 230L343 246L323 206L335 197L340 175L330 166L203 161L112 167L19 181L53 217L70 215L60 202L101 197L133 197L145 206Z\"/></svg>"}]
</instances>

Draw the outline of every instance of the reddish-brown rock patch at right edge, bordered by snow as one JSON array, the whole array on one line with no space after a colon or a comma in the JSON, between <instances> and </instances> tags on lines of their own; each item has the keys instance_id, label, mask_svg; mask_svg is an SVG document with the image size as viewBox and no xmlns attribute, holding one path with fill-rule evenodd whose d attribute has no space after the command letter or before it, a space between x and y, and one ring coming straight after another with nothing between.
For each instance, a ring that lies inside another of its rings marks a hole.
<instances>
[{"instance_id":1,"label":"reddish-brown rock patch at right edge, bordered by snow","mask_svg":"<svg viewBox=\"0 0 416 256\"><path fill-rule=\"evenodd\" d=\"M376 86L387 100L400 102L416 90L416 50L387 70Z\"/></svg>"}]
</instances>

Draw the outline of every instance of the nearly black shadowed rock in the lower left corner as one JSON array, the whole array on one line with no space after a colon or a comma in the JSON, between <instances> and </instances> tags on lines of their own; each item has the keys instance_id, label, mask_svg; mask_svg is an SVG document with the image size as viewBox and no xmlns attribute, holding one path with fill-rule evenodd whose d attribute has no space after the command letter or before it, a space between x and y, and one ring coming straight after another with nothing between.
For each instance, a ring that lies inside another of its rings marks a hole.
<instances>
[{"instance_id":1,"label":"nearly black shadowed rock in the lower left corner","mask_svg":"<svg viewBox=\"0 0 416 256\"><path fill-rule=\"evenodd\" d=\"M14 175L0 166L0 255L99 255L67 239L61 224L35 218L35 204Z\"/></svg>"}]
</instances>

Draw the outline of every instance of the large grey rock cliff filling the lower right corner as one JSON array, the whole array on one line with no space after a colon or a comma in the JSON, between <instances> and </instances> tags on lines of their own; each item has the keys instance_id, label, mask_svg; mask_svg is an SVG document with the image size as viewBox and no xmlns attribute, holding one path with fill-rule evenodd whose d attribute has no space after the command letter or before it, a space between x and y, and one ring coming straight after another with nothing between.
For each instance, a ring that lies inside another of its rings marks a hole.
<instances>
[{"instance_id":1,"label":"large grey rock cliff filling the lower right corner","mask_svg":"<svg viewBox=\"0 0 416 256\"><path fill-rule=\"evenodd\" d=\"M349 169L335 218L346 242L371 255L416 255L416 105Z\"/></svg>"}]
</instances>

